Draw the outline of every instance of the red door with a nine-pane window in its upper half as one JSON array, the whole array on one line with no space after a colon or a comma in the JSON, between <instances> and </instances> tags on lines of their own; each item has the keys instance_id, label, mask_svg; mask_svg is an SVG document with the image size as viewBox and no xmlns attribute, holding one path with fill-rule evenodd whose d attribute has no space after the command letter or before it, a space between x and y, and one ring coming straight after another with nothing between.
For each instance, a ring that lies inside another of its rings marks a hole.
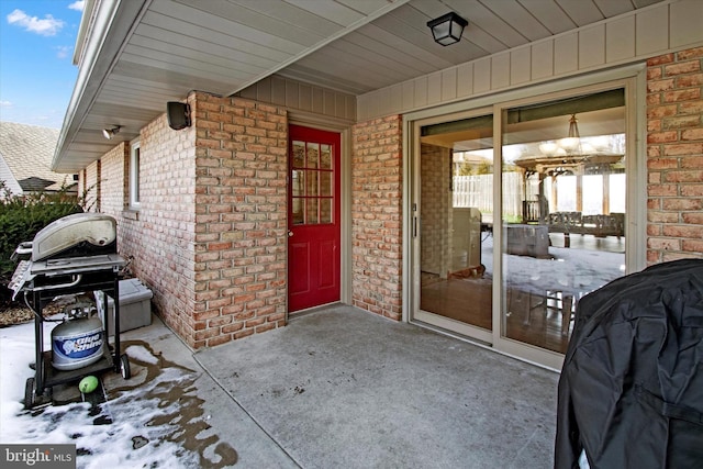
<instances>
[{"instance_id":1,"label":"red door with a nine-pane window in its upper half","mask_svg":"<svg viewBox=\"0 0 703 469\"><path fill-rule=\"evenodd\" d=\"M339 301L339 134L291 125L290 312Z\"/></svg>"}]
</instances>

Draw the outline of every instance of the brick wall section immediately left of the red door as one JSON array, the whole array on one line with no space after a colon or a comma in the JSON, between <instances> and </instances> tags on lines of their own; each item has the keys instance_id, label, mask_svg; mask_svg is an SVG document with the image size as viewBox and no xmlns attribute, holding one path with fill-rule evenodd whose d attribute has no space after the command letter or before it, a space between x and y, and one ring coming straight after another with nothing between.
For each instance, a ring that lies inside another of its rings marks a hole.
<instances>
[{"instance_id":1,"label":"brick wall section immediately left of the red door","mask_svg":"<svg viewBox=\"0 0 703 469\"><path fill-rule=\"evenodd\" d=\"M288 119L197 93L193 345L286 323Z\"/></svg>"}]
</instances>

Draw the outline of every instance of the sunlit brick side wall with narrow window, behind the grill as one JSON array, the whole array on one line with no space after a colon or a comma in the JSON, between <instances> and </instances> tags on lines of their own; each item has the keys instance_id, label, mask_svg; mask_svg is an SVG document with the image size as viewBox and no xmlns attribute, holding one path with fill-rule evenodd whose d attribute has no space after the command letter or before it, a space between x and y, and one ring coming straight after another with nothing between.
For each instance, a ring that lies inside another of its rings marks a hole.
<instances>
[{"instance_id":1,"label":"sunlit brick side wall with narrow window, behind the grill","mask_svg":"<svg viewBox=\"0 0 703 469\"><path fill-rule=\"evenodd\" d=\"M152 121L140 135L138 211L129 210L130 146L122 154L122 225L120 253L133 257L130 266L154 293L160 317L193 345L193 244L196 163L192 127L172 131L166 115ZM103 157L105 161L107 157ZM120 186L120 187L116 187ZM115 206L116 209L116 206Z\"/></svg>"}]
</instances>

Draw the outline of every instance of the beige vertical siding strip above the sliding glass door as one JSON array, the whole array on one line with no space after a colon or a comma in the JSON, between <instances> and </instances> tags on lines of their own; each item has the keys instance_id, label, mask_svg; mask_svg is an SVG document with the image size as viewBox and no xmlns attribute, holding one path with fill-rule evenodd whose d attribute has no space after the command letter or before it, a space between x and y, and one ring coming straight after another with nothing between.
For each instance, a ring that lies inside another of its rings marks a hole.
<instances>
[{"instance_id":1,"label":"beige vertical siding strip above the sliding glass door","mask_svg":"<svg viewBox=\"0 0 703 469\"><path fill-rule=\"evenodd\" d=\"M526 83L643 62L654 55L700 45L703 45L703 1L654 4L507 53L368 92L357 100L357 119L366 121L410 112ZM397 94L402 99L391 99Z\"/></svg>"}]
</instances>

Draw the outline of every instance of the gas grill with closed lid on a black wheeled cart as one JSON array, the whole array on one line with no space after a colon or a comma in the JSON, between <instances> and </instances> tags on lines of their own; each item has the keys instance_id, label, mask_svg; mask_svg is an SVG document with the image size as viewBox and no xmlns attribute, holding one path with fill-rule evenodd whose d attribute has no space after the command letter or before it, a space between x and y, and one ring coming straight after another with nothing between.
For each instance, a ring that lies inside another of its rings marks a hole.
<instances>
[{"instance_id":1,"label":"gas grill with closed lid on a black wheeled cart","mask_svg":"<svg viewBox=\"0 0 703 469\"><path fill-rule=\"evenodd\" d=\"M51 397L45 391L85 376L114 370L129 379L131 373L127 356L120 356L119 301L114 301L114 342L109 344L110 331L108 321L104 321L104 334L101 331L100 335L89 338L100 342L101 347L89 365L77 369L65 364L59 366L55 350L44 350L43 323L46 320L43 310L56 297L102 292L113 299L120 298L120 271L126 263L118 254L115 220L100 213L64 216L40 231L32 242L20 244L12 258L19 260L19 264L8 287L13 291L13 298L23 295L24 302L34 312L35 376L26 382L25 407L49 402ZM103 300L107 304L105 297ZM76 311L66 313L70 313L72 317ZM82 337L72 339L69 340L70 347L77 349L75 344L81 340L89 342Z\"/></svg>"}]
</instances>

